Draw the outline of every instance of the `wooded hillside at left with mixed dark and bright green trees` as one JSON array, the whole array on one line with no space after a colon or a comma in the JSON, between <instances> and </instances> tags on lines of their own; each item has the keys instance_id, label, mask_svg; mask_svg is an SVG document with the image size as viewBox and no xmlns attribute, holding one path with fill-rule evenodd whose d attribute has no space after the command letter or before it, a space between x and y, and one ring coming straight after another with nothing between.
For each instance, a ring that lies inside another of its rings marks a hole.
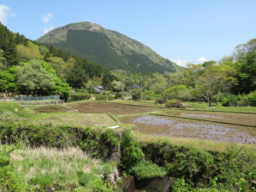
<instances>
[{"instance_id":1,"label":"wooded hillside at left with mixed dark and bright green trees","mask_svg":"<svg viewBox=\"0 0 256 192\"><path fill-rule=\"evenodd\" d=\"M10 93L9 96L60 94L67 99L72 87L81 88L94 81L111 85L113 80L119 80L86 57L71 55L53 45L38 44L3 25L0 25L0 69L0 91Z\"/></svg>"}]
</instances>

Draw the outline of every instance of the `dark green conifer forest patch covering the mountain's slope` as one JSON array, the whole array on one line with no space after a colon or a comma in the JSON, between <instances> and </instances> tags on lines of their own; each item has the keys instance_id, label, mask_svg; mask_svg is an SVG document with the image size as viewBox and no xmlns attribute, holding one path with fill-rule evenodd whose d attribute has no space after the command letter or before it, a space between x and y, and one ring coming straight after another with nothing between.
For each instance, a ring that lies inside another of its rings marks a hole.
<instances>
[{"instance_id":1,"label":"dark green conifer forest patch covering the mountain's slope","mask_svg":"<svg viewBox=\"0 0 256 192\"><path fill-rule=\"evenodd\" d=\"M122 69L133 73L175 72L175 69L160 66L148 59L147 56L137 54L135 51L131 55L126 55L125 52L121 53L122 55L116 55L108 36L100 32L68 30L67 41L52 44L56 48L70 51L71 54L86 55L88 60L110 70Z\"/></svg>"}]
</instances>

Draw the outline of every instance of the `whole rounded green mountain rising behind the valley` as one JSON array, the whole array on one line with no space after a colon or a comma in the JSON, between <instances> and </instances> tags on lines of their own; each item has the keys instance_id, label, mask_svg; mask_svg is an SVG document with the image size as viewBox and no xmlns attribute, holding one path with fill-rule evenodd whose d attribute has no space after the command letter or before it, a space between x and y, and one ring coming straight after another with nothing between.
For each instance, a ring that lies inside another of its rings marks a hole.
<instances>
[{"instance_id":1,"label":"whole rounded green mountain rising behind the valley","mask_svg":"<svg viewBox=\"0 0 256 192\"><path fill-rule=\"evenodd\" d=\"M55 48L71 54L86 56L89 61L108 69L141 73L175 72L180 69L176 63L161 57L137 40L91 22L55 28L36 41L53 44Z\"/></svg>"}]
</instances>

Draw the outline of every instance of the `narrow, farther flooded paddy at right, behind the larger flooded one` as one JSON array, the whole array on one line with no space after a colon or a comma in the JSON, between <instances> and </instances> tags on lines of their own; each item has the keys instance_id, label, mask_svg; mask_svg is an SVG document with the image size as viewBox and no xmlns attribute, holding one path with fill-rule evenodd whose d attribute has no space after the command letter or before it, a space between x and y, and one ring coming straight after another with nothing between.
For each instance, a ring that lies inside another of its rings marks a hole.
<instances>
[{"instance_id":1,"label":"narrow, farther flooded paddy at right, behind the larger flooded one","mask_svg":"<svg viewBox=\"0 0 256 192\"><path fill-rule=\"evenodd\" d=\"M162 114L177 117L206 119L232 124L256 125L256 114L248 113L221 113L221 112L204 112L204 111L168 111Z\"/></svg>"}]
</instances>

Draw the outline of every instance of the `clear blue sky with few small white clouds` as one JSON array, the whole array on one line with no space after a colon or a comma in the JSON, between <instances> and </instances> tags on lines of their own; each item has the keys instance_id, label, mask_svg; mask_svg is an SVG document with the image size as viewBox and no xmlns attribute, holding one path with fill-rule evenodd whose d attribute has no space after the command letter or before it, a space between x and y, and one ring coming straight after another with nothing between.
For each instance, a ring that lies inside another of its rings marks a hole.
<instances>
[{"instance_id":1,"label":"clear blue sky with few small white clouds","mask_svg":"<svg viewBox=\"0 0 256 192\"><path fill-rule=\"evenodd\" d=\"M52 28L90 21L183 66L218 61L256 38L255 7L255 0L1 0L0 21L32 40Z\"/></svg>"}]
</instances>

